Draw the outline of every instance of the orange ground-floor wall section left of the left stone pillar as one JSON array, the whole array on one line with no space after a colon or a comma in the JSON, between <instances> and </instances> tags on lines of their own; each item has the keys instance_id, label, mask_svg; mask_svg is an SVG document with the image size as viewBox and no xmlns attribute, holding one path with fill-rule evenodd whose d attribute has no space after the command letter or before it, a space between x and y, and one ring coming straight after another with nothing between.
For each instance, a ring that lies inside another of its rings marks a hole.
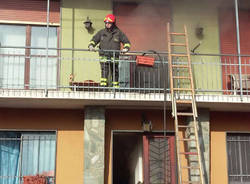
<instances>
[{"instance_id":1,"label":"orange ground-floor wall section left of the left stone pillar","mask_svg":"<svg viewBox=\"0 0 250 184\"><path fill-rule=\"evenodd\" d=\"M83 183L83 111L0 109L0 129L57 130L56 182Z\"/></svg>"}]
</instances>

